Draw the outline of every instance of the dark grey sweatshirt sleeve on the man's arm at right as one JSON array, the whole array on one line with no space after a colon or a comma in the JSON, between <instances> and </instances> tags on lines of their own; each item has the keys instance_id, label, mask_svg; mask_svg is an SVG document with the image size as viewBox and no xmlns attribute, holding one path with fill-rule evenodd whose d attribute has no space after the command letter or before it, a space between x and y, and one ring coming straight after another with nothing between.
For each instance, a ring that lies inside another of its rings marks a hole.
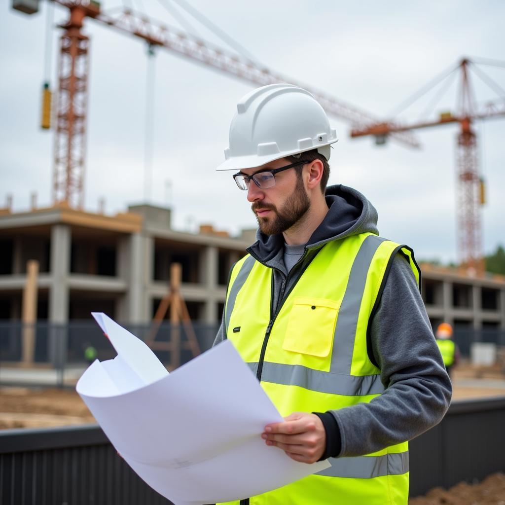
<instances>
[{"instance_id":1,"label":"dark grey sweatshirt sleeve on the man's arm at right","mask_svg":"<svg viewBox=\"0 0 505 505\"><path fill-rule=\"evenodd\" d=\"M439 423L449 406L451 382L414 274L402 255L392 261L370 323L386 389L369 403L325 413L340 432L340 444L327 447L329 456L362 456L415 438Z\"/></svg>"}]
</instances>

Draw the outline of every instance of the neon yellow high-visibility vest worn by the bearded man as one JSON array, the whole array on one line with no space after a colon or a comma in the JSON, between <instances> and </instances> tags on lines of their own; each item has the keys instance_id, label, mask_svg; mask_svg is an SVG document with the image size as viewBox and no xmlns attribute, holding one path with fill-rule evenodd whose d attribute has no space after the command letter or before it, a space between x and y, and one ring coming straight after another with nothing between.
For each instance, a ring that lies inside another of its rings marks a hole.
<instances>
[{"instance_id":1,"label":"neon yellow high-visibility vest worn by the bearded man","mask_svg":"<svg viewBox=\"0 0 505 505\"><path fill-rule=\"evenodd\" d=\"M225 305L227 337L282 416L349 407L384 391L367 354L367 329L399 250L419 283L413 251L405 245L371 233L325 244L274 317L272 270L249 255L235 265ZM250 505L407 503L408 442L329 461L326 470L250 497Z\"/></svg>"}]
</instances>

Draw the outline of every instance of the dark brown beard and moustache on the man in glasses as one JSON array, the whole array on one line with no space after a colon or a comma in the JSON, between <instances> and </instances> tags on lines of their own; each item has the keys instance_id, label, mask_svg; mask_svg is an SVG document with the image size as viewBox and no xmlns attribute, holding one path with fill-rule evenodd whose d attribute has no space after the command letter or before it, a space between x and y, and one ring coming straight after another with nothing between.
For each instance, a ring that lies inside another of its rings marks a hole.
<instances>
[{"instance_id":1,"label":"dark brown beard and moustache on the man in glasses","mask_svg":"<svg viewBox=\"0 0 505 505\"><path fill-rule=\"evenodd\" d=\"M309 210L311 201L305 192L304 182L301 177L297 178L296 187L293 192L286 198L282 209L277 210L277 207L272 204L262 204L255 202L251 205L252 212L256 209L269 209L274 212L274 217L259 217L258 226L266 235L276 235L289 230L292 226L304 218ZM256 213L255 213L256 214Z\"/></svg>"}]
</instances>

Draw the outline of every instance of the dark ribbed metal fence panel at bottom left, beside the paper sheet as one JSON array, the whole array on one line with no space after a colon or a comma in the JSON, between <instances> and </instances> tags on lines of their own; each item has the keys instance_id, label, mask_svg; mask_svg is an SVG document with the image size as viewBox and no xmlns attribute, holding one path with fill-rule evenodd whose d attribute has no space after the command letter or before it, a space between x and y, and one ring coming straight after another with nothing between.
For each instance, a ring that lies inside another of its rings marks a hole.
<instances>
[{"instance_id":1,"label":"dark ribbed metal fence panel at bottom left, beside the paper sheet","mask_svg":"<svg viewBox=\"0 0 505 505\"><path fill-rule=\"evenodd\" d=\"M173 505L130 469L96 425L0 431L0 503Z\"/></svg>"}]
</instances>

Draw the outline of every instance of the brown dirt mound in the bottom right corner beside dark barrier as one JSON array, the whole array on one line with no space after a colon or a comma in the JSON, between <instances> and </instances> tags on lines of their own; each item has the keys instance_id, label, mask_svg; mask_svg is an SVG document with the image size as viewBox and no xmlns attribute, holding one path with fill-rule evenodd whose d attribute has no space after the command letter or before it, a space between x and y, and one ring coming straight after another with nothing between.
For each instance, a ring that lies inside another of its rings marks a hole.
<instances>
[{"instance_id":1,"label":"brown dirt mound in the bottom right corner beside dark barrier","mask_svg":"<svg viewBox=\"0 0 505 505\"><path fill-rule=\"evenodd\" d=\"M489 475L477 484L435 487L426 496L411 498L409 505L505 505L505 474Z\"/></svg>"}]
</instances>

